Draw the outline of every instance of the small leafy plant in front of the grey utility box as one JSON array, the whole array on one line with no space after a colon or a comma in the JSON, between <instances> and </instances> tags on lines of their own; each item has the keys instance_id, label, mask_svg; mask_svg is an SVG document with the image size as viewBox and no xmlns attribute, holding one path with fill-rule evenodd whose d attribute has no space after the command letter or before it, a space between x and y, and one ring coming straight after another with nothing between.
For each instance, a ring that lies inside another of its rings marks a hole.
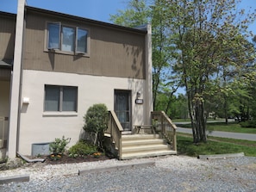
<instances>
[{"instance_id":1,"label":"small leafy plant in front of the grey utility box","mask_svg":"<svg viewBox=\"0 0 256 192\"><path fill-rule=\"evenodd\" d=\"M64 136L62 136L62 139L56 138L53 143L50 143L50 152L52 155L60 155L62 156L63 153L66 151L66 145L69 144L70 138L65 139Z\"/></svg>"}]
</instances>

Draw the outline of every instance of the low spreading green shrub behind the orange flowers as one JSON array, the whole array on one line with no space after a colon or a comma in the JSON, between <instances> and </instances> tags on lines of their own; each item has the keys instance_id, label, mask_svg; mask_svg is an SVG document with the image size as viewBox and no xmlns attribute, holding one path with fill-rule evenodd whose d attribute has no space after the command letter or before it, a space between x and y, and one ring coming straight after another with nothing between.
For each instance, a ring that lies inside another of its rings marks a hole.
<instances>
[{"instance_id":1,"label":"low spreading green shrub behind the orange flowers","mask_svg":"<svg viewBox=\"0 0 256 192\"><path fill-rule=\"evenodd\" d=\"M68 150L69 157L77 158L92 155L97 152L97 146L92 146L85 141L79 141Z\"/></svg>"}]
</instances>

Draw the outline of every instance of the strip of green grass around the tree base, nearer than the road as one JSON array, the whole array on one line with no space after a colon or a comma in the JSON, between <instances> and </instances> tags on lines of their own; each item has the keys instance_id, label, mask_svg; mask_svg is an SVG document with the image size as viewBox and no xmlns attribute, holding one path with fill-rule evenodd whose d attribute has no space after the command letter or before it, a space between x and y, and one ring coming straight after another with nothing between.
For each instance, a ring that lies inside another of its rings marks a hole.
<instances>
[{"instance_id":1,"label":"strip of green grass around the tree base, nearer than the road","mask_svg":"<svg viewBox=\"0 0 256 192\"><path fill-rule=\"evenodd\" d=\"M246 156L256 157L256 142L243 141L232 139L232 142L228 142L228 139L215 140L208 139L207 143L200 143L195 145L193 139L188 135L178 133L177 136L177 148L178 154L188 155L197 157L198 155L214 155L214 154L225 154L225 153L238 153L244 152ZM229 140L231 141L231 140ZM249 145L248 145L249 144Z\"/></svg>"}]
</instances>

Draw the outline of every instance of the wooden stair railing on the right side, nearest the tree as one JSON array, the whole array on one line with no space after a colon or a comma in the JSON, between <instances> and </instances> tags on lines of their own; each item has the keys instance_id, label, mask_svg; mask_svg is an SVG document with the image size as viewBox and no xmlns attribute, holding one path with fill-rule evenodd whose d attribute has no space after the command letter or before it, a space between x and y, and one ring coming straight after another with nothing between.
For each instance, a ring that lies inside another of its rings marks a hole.
<instances>
[{"instance_id":1,"label":"wooden stair railing on the right side, nearest the tree","mask_svg":"<svg viewBox=\"0 0 256 192\"><path fill-rule=\"evenodd\" d=\"M176 125L172 123L172 120L167 115L165 115L164 111L151 112L151 118L153 120L153 126L156 128L156 132L160 132L171 145L171 149L177 151Z\"/></svg>"}]
</instances>

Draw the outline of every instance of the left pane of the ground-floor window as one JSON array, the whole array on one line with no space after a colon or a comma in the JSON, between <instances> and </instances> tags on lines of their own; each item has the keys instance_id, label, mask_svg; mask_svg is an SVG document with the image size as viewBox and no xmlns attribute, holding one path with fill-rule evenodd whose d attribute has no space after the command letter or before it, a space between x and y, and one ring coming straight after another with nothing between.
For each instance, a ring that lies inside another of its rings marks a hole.
<instances>
[{"instance_id":1,"label":"left pane of the ground-floor window","mask_svg":"<svg viewBox=\"0 0 256 192\"><path fill-rule=\"evenodd\" d=\"M59 87L46 86L45 111L59 111Z\"/></svg>"}]
</instances>

